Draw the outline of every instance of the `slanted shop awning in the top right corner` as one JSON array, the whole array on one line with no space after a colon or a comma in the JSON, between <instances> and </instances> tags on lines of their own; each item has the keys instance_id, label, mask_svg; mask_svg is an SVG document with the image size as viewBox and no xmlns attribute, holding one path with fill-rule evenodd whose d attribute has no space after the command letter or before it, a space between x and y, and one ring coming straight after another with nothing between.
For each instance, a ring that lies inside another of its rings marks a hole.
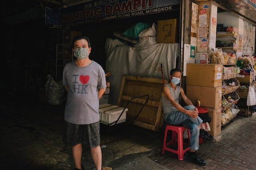
<instances>
[{"instance_id":1,"label":"slanted shop awning in the top right corner","mask_svg":"<svg viewBox=\"0 0 256 170\"><path fill-rule=\"evenodd\" d=\"M256 23L256 0L215 0L215 2Z\"/></svg>"}]
</instances>

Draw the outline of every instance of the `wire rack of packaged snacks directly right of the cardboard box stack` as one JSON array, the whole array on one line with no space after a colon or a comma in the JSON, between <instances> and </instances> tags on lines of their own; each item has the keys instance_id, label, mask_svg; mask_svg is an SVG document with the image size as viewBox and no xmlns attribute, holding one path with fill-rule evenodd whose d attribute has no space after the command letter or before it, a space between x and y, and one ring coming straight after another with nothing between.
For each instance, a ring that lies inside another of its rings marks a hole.
<instances>
[{"instance_id":1,"label":"wire rack of packaged snacks directly right of the cardboard box stack","mask_svg":"<svg viewBox=\"0 0 256 170\"><path fill-rule=\"evenodd\" d=\"M240 111L236 106L240 99L236 90L240 87L236 79L240 68L236 66L236 55L234 53L222 52L222 49L216 49L210 53L209 62L212 64L222 64L222 128L233 120Z\"/></svg>"}]
</instances>

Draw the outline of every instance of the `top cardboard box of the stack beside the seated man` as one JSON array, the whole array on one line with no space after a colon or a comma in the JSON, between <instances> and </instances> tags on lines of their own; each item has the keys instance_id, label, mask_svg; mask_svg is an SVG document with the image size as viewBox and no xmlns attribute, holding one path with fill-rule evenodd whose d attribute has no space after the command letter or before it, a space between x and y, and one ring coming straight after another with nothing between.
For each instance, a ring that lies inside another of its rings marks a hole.
<instances>
[{"instance_id":1,"label":"top cardboard box of the stack beside the seated man","mask_svg":"<svg viewBox=\"0 0 256 170\"><path fill-rule=\"evenodd\" d=\"M218 87L222 86L222 64L188 63L186 85Z\"/></svg>"}]
</instances>

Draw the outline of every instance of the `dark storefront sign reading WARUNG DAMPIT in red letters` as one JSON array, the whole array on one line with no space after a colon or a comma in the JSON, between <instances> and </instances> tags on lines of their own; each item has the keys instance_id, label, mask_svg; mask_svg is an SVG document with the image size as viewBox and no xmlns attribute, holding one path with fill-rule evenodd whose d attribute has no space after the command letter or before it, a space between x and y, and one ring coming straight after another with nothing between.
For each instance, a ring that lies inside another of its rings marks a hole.
<instances>
[{"instance_id":1,"label":"dark storefront sign reading WARUNG DAMPIT in red letters","mask_svg":"<svg viewBox=\"0 0 256 170\"><path fill-rule=\"evenodd\" d=\"M99 0L61 8L46 8L48 27L65 27L168 12L180 9L180 0Z\"/></svg>"}]
</instances>

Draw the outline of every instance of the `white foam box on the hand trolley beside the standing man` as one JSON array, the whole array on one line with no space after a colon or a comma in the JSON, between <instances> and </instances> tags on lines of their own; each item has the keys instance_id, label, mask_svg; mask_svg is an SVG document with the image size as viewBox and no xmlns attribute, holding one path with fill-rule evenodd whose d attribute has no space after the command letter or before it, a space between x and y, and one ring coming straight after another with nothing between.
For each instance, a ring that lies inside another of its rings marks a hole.
<instances>
[{"instance_id":1,"label":"white foam box on the hand trolley beside the standing man","mask_svg":"<svg viewBox=\"0 0 256 170\"><path fill-rule=\"evenodd\" d=\"M124 112L122 113L122 111ZM119 107L116 105L111 104L101 104L99 106L99 113L100 113L100 123L110 125L111 123L117 121L118 117L121 115L120 119L118 120L118 123L122 123L126 121L126 112L128 111L128 108ZM114 125L115 123L111 124Z\"/></svg>"}]
</instances>

